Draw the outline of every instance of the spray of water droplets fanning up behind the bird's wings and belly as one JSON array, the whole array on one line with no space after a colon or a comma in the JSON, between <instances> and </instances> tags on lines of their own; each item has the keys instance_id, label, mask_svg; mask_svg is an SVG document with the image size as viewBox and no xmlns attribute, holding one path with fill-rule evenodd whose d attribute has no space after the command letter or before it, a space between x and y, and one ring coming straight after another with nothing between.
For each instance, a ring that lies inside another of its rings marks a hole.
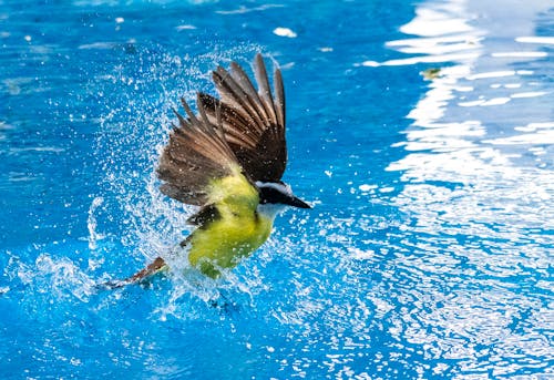
<instances>
[{"instance_id":1,"label":"spray of water droplets fanning up behind the bird's wings and belly","mask_svg":"<svg viewBox=\"0 0 554 380\"><path fill-rule=\"evenodd\" d=\"M102 117L102 131L96 141L96 155L102 157L100 165L104 178L101 185L104 192L93 201L89 213L91 248L99 229L102 230L98 223L101 217L110 222L112 230L113 224L119 224L121 242L135 258L145 264L157 256L168 263L173 260L172 266L177 270L171 278L178 286L166 299L167 304L156 308L155 314L161 318L166 318L166 314L176 315L176 310L187 315L176 305L189 294L209 302L218 297L217 289L236 287L248 291L248 287L232 274L223 281L209 280L199 286L197 278L182 278L182 271L189 273L191 268L181 263L183 254L177 255L175 261L172 251L189 232L186 219L193 207L160 192L155 168L172 126L172 107L178 99L191 99L196 91L213 92L209 73L216 64L232 60L249 62L258 50L257 45L238 45L225 51L214 47L211 52L194 58L144 52L140 54L137 66L117 66L101 78L106 86L102 93L112 95L100 100L109 102L110 111ZM112 90L113 86L117 86L117 92ZM100 204L103 207L100 208ZM138 266L135 271L140 269Z\"/></svg>"}]
</instances>

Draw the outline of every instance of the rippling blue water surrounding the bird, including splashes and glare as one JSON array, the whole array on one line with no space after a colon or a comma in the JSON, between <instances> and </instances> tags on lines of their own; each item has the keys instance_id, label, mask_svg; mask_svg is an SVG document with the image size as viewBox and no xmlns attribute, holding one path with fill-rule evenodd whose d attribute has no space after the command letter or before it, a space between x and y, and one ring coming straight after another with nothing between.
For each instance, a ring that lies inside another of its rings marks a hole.
<instances>
[{"instance_id":1,"label":"rippling blue water surrounding the bird, including splashes and glare","mask_svg":"<svg viewBox=\"0 0 554 380\"><path fill-rule=\"evenodd\" d=\"M0 44L2 378L554 377L548 1L4 0ZM217 281L95 291L186 234L171 107L257 51L314 209Z\"/></svg>"}]
</instances>

